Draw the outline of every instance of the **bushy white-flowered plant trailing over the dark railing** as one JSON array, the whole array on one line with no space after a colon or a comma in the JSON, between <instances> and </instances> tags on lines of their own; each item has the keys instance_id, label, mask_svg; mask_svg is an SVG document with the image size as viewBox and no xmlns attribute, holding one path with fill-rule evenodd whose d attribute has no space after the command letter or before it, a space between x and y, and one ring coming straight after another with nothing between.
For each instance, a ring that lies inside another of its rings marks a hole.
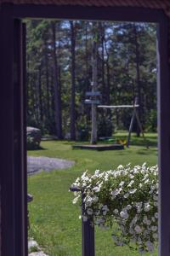
<instances>
[{"instance_id":1,"label":"bushy white-flowered plant trailing over the dark railing","mask_svg":"<svg viewBox=\"0 0 170 256\"><path fill-rule=\"evenodd\" d=\"M101 228L116 223L112 234L116 245L152 253L158 237L158 168L157 166L118 166L116 170L87 172L72 186L83 191L83 221ZM80 203L81 192L74 192L73 203Z\"/></svg>"}]
</instances>

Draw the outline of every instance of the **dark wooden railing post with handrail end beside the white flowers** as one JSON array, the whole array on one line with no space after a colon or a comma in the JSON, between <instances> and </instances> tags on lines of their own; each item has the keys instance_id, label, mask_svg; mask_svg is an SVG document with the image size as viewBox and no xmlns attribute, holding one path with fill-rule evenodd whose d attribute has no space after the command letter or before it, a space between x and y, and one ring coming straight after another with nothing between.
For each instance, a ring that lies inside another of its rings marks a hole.
<instances>
[{"instance_id":1,"label":"dark wooden railing post with handrail end beside the white flowers","mask_svg":"<svg viewBox=\"0 0 170 256\"><path fill-rule=\"evenodd\" d=\"M82 193L82 216L85 211L84 203L84 192L81 189L71 187L72 192ZM82 256L94 256L95 255L95 246L94 246L94 226L90 224L90 220L83 221L82 218Z\"/></svg>"}]
</instances>

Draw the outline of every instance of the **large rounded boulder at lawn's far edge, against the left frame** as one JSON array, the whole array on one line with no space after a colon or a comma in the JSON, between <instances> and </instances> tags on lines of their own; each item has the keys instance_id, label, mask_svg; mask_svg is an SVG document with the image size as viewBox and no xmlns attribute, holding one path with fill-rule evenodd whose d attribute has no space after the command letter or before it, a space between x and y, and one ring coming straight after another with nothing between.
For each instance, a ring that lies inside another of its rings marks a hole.
<instances>
[{"instance_id":1,"label":"large rounded boulder at lawn's far edge, against the left frame","mask_svg":"<svg viewBox=\"0 0 170 256\"><path fill-rule=\"evenodd\" d=\"M35 127L26 127L26 137L28 150L40 148L42 137L40 129L37 129Z\"/></svg>"}]
</instances>

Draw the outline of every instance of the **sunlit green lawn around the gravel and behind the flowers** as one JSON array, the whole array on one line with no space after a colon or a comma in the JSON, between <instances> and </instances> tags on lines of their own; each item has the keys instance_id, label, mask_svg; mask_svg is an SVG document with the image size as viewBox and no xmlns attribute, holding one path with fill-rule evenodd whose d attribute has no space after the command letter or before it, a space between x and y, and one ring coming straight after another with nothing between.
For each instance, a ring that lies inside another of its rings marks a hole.
<instances>
[{"instance_id":1,"label":"sunlit green lawn around the gravel and behind the flowers","mask_svg":"<svg viewBox=\"0 0 170 256\"><path fill-rule=\"evenodd\" d=\"M116 137L125 137L117 133ZM81 213L79 207L72 205L73 195L68 192L71 183L85 170L94 172L110 170L131 162L139 165L157 163L156 134L147 134L150 149L146 149L141 138L132 137L132 146L121 151L93 151L72 149L71 142L42 142L41 150L28 151L28 155L58 157L74 160L75 166L59 171L41 172L28 177L28 192L34 196L29 204L31 230L33 237L49 256L81 255ZM128 247L114 247L111 230L95 229L96 256L137 256ZM148 254L149 255L149 254ZM156 253L154 255L157 255Z\"/></svg>"}]
</instances>

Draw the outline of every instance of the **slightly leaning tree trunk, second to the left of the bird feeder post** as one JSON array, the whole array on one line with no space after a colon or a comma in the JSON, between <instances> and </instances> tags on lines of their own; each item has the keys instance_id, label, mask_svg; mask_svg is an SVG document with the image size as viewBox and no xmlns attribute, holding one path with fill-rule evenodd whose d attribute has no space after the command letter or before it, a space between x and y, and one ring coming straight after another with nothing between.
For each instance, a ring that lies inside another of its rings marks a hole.
<instances>
[{"instance_id":1,"label":"slightly leaning tree trunk, second to the left of the bird feeder post","mask_svg":"<svg viewBox=\"0 0 170 256\"><path fill-rule=\"evenodd\" d=\"M55 125L59 139L62 139L62 114L61 114L61 95L59 86L59 67L56 53L56 22L52 21L52 40L53 40L53 61L54 61L54 104L55 104Z\"/></svg>"}]
</instances>

